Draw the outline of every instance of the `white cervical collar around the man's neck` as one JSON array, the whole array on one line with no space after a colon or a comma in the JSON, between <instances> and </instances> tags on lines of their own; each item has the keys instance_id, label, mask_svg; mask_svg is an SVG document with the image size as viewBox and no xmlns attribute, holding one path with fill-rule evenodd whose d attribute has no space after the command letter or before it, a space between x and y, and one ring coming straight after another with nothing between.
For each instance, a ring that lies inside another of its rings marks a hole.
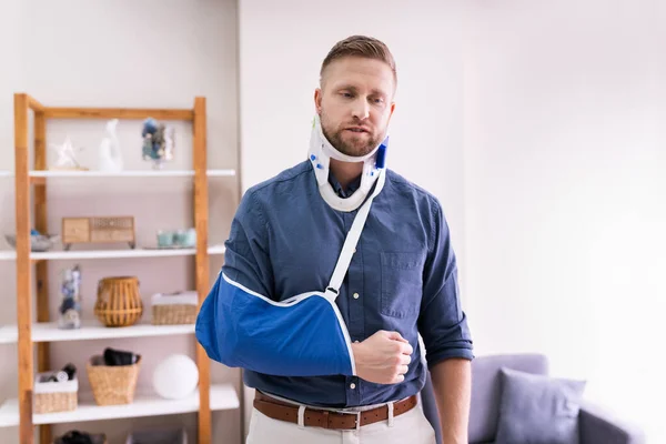
<instances>
[{"instance_id":1,"label":"white cervical collar around the man's neck","mask_svg":"<svg viewBox=\"0 0 666 444\"><path fill-rule=\"evenodd\" d=\"M380 174L385 174L384 161L387 145L389 137L366 155L353 157L343 154L324 137L320 117L315 115L312 124L312 134L310 137L309 158L316 176L320 194L324 201L326 201L334 210L344 212L354 211L361 206ZM346 199L339 196L329 182L329 165L331 163L331 158L342 162L363 162L361 185ZM383 181L381 184L383 184ZM380 183L377 183L377 186L379 185Z\"/></svg>"}]
</instances>

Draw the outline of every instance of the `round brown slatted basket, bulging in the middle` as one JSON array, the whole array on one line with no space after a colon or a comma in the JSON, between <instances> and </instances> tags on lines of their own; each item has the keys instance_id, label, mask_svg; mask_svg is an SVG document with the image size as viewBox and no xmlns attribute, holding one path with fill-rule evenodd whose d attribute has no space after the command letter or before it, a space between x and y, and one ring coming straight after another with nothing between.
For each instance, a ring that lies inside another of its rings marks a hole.
<instances>
[{"instance_id":1,"label":"round brown slatted basket, bulging in the middle","mask_svg":"<svg viewBox=\"0 0 666 444\"><path fill-rule=\"evenodd\" d=\"M139 280L134 276L104 278L98 283L94 315L107 326L129 326L143 314Z\"/></svg>"}]
</instances>

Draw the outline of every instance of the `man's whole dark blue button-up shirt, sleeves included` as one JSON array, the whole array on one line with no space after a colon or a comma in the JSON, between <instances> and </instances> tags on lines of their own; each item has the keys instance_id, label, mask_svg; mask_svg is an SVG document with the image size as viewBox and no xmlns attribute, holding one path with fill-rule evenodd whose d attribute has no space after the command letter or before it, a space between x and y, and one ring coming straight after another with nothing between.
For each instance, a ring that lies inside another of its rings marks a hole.
<instances>
[{"instance_id":1,"label":"man's whole dark blue button-up shirt, sleeves included","mask_svg":"<svg viewBox=\"0 0 666 444\"><path fill-rule=\"evenodd\" d=\"M330 181L345 196L333 176ZM359 181L347 193L357 186ZM302 162L243 195L225 242L222 272L274 301L324 291L356 213L333 210L320 195L312 165ZM414 354L402 383L375 384L344 375L284 377L245 370L245 384L311 405L370 405L420 392L426 365L450 357L473 359L442 206L391 170L372 203L336 304L352 341L380 330L397 331L410 341Z\"/></svg>"}]
</instances>

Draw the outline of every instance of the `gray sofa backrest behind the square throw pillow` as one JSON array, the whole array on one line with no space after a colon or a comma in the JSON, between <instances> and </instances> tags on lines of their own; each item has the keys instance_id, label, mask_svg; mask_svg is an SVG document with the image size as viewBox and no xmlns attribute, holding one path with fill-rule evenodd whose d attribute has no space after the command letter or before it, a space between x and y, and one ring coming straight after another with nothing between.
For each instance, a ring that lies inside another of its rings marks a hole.
<instances>
[{"instance_id":1,"label":"gray sofa backrest behind the square throw pillow","mask_svg":"<svg viewBox=\"0 0 666 444\"><path fill-rule=\"evenodd\" d=\"M497 433L500 415L500 369L547 374L548 360L543 354L496 354L472 361L472 406L470 411L470 442L491 443Z\"/></svg>"}]
</instances>

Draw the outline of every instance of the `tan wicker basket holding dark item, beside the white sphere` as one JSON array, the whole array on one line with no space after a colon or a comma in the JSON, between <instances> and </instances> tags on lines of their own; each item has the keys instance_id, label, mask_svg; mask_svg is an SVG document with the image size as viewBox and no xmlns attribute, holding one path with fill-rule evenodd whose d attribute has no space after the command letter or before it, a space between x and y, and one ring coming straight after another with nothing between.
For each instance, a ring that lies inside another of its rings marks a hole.
<instances>
[{"instance_id":1,"label":"tan wicker basket holding dark item, beside the white sphere","mask_svg":"<svg viewBox=\"0 0 666 444\"><path fill-rule=\"evenodd\" d=\"M87 364L88 380L98 405L131 404L134 401L141 357L132 365L104 365L104 357L95 355Z\"/></svg>"}]
</instances>

